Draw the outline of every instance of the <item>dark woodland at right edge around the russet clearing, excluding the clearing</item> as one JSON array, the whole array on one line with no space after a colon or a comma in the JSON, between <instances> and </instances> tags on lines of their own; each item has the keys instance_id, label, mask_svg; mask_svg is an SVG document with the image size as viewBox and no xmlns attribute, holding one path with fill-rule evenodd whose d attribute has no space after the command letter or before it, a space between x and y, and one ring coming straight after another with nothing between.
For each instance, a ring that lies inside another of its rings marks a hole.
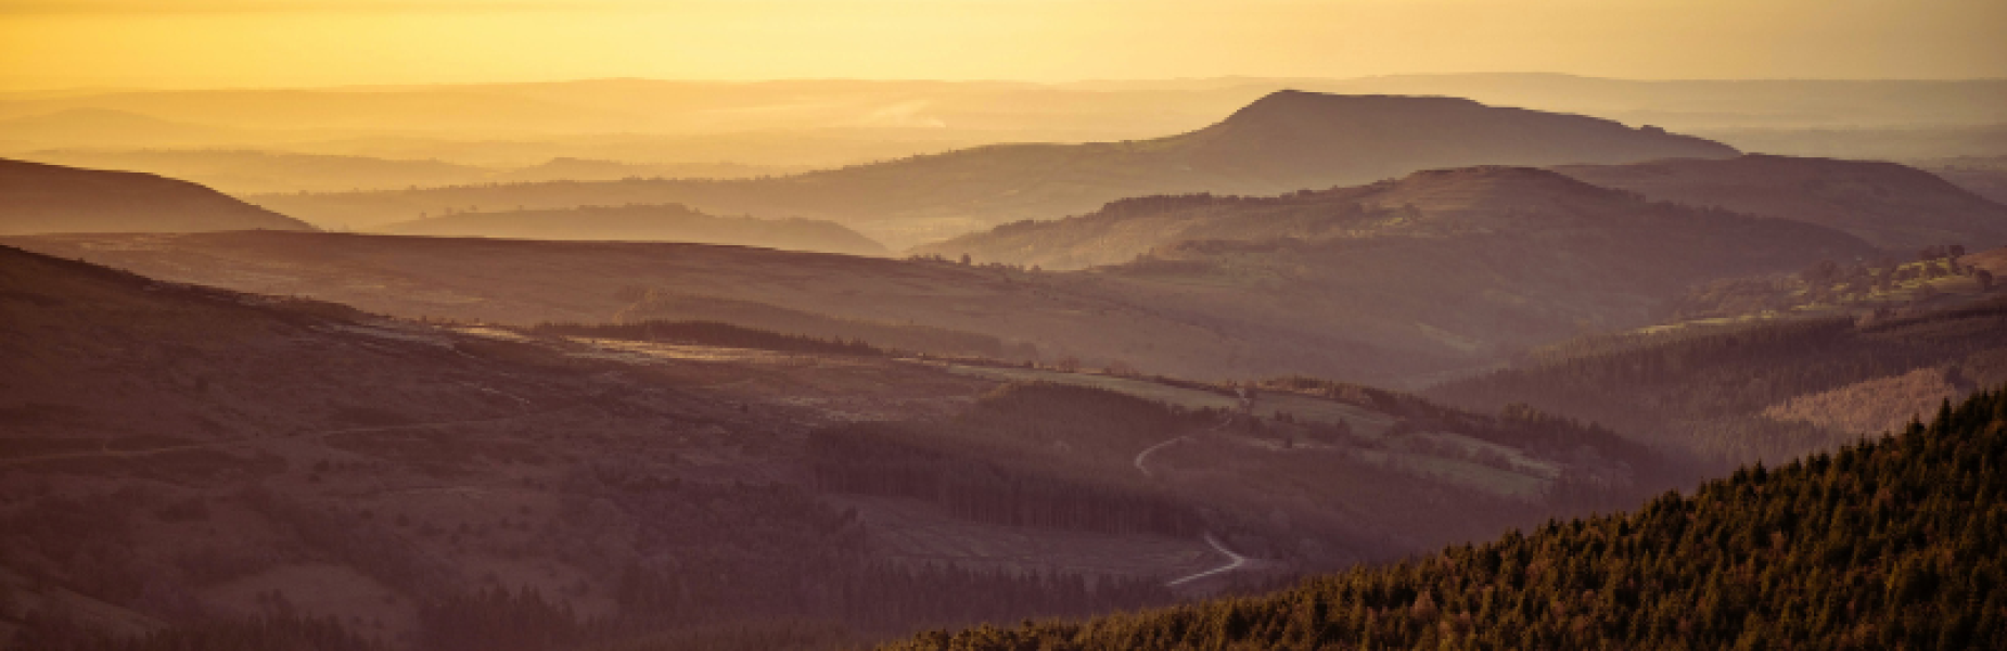
<instances>
[{"instance_id":1,"label":"dark woodland at right edge around the russet clearing, excluding the clearing","mask_svg":"<svg viewBox=\"0 0 2007 651\"><path fill-rule=\"evenodd\" d=\"M1780 460L1862 434L1760 416L1790 398L1937 366L1969 386L2007 382L2007 301L1909 317L1798 319L1638 346L1606 344L1425 394L1479 410L1533 404L1682 446L1716 466Z\"/></svg>"}]
</instances>

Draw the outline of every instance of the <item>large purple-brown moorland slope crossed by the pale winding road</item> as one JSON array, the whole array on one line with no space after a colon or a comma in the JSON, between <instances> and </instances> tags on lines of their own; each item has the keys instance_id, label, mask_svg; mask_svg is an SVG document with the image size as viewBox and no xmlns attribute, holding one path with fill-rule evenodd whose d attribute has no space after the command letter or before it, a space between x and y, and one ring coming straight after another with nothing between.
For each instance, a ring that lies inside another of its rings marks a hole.
<instances>
[{"instance_id":1,"label":"large purple-brown moorland slope crossed by the pale winding road","mask_svg":"<svg viewBox=\"0 0 2007 651\"><path fill-rule=\"evenodd\" d=\"M1529 410L723 334L755 348L0 249L0 643L831 647L1264 585L1690 476Z\"/></svg>"}]
</instances>

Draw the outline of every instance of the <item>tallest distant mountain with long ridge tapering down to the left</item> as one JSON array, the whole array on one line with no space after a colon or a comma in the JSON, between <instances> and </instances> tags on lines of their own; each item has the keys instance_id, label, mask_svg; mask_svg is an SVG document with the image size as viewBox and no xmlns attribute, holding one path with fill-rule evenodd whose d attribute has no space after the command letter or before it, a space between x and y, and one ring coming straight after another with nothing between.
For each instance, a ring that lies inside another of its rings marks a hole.
<instances>
[{"instance_id":1,"label":"tallest distant mountain with long ridge tapering down to the left","mask_svg":"<svg viewBox=\"0 0 2007 651\"><path fill-rule=\"evenodd\" d=\"M829 219L907 247L1032 217L1160 193L1272 195L1431 167L1734 157L1658 129L1441 96L1274 92L1186 135L1090 145L989 145L779 179L606 181L271 195L313 223L369 223L444 207L684 203L708 213ZM375 217L381 219L381 217Z\"/></svg>"}]
</instances>

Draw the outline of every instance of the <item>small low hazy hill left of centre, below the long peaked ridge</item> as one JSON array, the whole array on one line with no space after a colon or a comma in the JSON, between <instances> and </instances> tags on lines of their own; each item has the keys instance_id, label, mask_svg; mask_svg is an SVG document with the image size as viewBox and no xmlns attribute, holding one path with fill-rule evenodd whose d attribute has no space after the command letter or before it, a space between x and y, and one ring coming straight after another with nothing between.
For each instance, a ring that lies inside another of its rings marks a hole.
<instances>
[{"instance_id":1,"label":"small low hazy hill left of centre, below the long peaked ridge","mask_svg":"<svg viewBox=\"0 0 2007 651\"><path fill-rule=\"evenodd\" d=\"M375 227L393 235L690 241L791 251L885 255L857 231L815 219L716 217L682 205L576 207L562 211L454 213Z\"/></svg>"}]
</instances>

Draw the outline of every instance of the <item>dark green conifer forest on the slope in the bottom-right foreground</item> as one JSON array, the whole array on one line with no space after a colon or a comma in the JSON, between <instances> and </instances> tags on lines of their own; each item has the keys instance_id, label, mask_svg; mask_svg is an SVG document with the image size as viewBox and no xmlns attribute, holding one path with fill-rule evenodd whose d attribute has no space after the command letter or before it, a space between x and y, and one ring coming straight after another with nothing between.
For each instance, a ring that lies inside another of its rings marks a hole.
<instances>
[{"instance_id":1,"label":"dark green conifer forest on the slope in the bottom-right foreground","mask_svg":"<svg viewBox=\"0 0 2007 651\"><path fill-rule=\"evenodd\" d=\"M1991 392L1632 514L1258 599L885 649L1983 649L2007 637L2003 466L2007 392Z\"/></svg>"}]
</instances>

